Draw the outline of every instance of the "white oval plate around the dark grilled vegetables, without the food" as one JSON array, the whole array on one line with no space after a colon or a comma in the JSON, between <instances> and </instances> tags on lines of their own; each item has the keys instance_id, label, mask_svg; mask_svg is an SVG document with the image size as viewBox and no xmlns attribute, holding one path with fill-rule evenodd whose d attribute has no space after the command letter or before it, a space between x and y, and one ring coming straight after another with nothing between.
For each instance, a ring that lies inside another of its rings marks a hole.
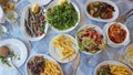
<instances>
[{"instance_id":1,"label":"white oval plate around the dark grilled vegetables, without the food","mask_svg":"<svg viewBox=\"0 0 133 75\"><path fill-rule=\"evenodd\" d=\"M113 18L111 18L111 19L101 19L101 18L93 18L93 17L91 17L91 15L88 13L86 8L88 8L88 6L89 6L90 3L95 2L95 1L105 2L105 3L111 4L112 7L114 7L114 10L115 10L115 11L113 12ZM117 8L117 6L116 6L113 1L111 1L111 0L89 0L89 1L86 2L86 4L85 4L84 11L85 11L85 14L86 14L90 19L92 19L92 20L94 20L94 21L99 21L99 22L111 22L111 21L114 21L115 19L117 19L117 17L119 17L119 8Z\"/></svg>"}]
</instances>

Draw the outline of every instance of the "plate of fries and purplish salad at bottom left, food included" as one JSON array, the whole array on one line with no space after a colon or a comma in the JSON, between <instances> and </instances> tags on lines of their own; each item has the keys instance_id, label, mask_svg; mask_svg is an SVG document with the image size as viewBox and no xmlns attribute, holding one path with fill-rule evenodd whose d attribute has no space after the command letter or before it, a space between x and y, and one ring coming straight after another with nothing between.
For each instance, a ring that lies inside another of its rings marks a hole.
<instances>
[{"instance_id":1,"label":"plate of fries and purplish salad at bottom left, food included","mask_svg":"<svg viewBox=\"0 0 133 75\"><path fill-rule=\"evenodd\" d=\"M61 66L45 54L30 56L25 69L27 75L63 75Z\"/></svg>"}]
</instances>

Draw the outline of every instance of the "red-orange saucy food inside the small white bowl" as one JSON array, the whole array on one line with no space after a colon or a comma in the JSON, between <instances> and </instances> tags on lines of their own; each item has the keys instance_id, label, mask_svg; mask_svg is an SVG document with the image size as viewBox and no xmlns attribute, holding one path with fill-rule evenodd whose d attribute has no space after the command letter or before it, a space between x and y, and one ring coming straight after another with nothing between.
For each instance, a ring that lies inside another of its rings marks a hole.
<instances>
[{"instance_id":1,"label":"red-orange saucy food inside the small white bowl","mask_svg":"<svg viewBox=\"0 0 133 75\"><path fill-rule=\"evenodd\" d=\"M126 31L117 23L109 28L109 38L114 43L122 43L126 38Z\"/></svg>"}]
</instances>

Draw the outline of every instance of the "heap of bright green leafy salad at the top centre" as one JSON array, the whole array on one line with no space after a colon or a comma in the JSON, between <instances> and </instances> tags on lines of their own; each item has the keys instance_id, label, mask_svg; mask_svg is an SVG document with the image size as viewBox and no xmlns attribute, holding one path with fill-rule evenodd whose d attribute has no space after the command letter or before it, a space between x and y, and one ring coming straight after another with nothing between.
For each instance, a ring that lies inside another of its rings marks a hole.
<instances>
[{"instance_id":1,"label":"heap of bright green leafy salad at the top centre","mask_svg":"<svg viewBox=\"0 0 133 75\"><path fill-rule=\"evenodd\" d=\"M51 26L63 31L74 26L79 17L71 2L62 2L59 6L48 9L47 20Z\"/></svg>"}]
</instances>

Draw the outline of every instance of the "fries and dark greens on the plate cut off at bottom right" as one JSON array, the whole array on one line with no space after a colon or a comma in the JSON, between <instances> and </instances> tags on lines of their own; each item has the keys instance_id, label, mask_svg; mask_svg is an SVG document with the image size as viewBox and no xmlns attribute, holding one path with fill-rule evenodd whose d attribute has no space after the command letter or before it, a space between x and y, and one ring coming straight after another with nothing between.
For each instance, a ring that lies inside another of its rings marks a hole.
<instances>
[{"instance_id":1,"label":"fries and dark greens on the plate cut off at bottom right","mask_svg":"<svg viewBox=\"0 0 133 75\"><path fill-rule=\"evenodd\" d=\"M96 75L132 75L130 69L121 65L101 65Z\"/></svg>"}]
</instances>

